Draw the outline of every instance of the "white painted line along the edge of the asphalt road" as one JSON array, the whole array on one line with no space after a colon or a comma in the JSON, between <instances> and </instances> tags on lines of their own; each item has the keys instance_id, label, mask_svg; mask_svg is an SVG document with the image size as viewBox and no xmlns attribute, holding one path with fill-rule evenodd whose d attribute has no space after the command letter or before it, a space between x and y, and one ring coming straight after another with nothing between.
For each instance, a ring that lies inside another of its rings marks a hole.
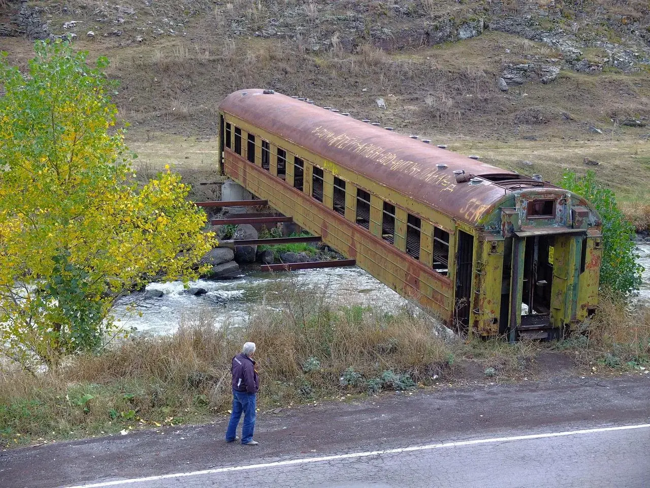
<instances>
[{"instance_id":1,"label":"white painted line along the edge of the asphalt road","mask_svg":"<svg viewBox=\"0 0 650 488\"><path fill-rule=\"evenodd\" d=\"M145 478L131 478L129 480L104 481L102 483L90 483L87 485L75 485L65 488L102 488L105 486L120 486L144 481L166 480L168 478L183 478L187 476L201 476L203 474L225 473L230 471L244 471L261 468L279 468L283 466L305 465L311 463L323 463L325 461L337 461L339 459L356 459L359 457L370 457L385 454L400 454L402 452L426 451L439 448L454 448L476 446L477 444L491 444L493 442L531 441L534 439L548 439L549 437L566 437L569 435L595 434L600 432L612 432L632 429L647 429L650 424L639 424L635 426L620 427L599 427L597 429L572 430L564 432L552 432L546 434L515 435L513 437L493 437L492 439L474 439L474 441L443 442L441 444L428 444L426 446L413 446L408 448L386 449L382 451L353 452L350 454L339 454L324 457L306 457L303 459L289 459L287 461L275 461L274 463L261 463L248 466L231 466L227 468L204 469L185 473L161 474L159 476L146 476Z\"/></svg>"}]
</instances>

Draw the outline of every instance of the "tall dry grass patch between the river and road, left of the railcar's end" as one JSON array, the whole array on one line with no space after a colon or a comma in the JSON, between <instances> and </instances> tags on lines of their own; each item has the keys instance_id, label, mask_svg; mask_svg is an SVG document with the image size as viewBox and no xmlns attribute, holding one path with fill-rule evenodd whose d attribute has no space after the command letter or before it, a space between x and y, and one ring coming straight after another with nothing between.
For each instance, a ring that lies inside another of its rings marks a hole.
<instances>
[{"instance_id":1,"label":"tall dry grass patch between the river and road, left of the railcar's end","mask_svg":"<svg viewBox=\"0 0 650 488\"><path fill-rule=\"evenodd\" d=\"M373 391L394 388L395 378L426 383L447 364L449 345L434 323L406 310L333 306L327 293L298 283L266 290L266 304L252 310L245 327L215 329L203 313L181 319L170 336L134 336L36 377L6 370L0 439L88 437L223 413L231 401L231 358L248 340L257 343L262 409L365 392L370 380ZM341 386L345 373L354 381Z\"/></svg>"}]
</instances>

